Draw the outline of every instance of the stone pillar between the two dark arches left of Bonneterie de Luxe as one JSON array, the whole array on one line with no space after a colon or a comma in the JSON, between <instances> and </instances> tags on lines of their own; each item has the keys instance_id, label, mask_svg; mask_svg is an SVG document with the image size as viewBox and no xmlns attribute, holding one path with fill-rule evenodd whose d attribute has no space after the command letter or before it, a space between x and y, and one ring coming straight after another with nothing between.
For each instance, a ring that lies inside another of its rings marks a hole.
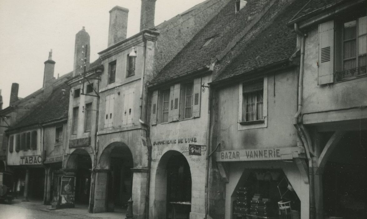
<instances>
[{"instance_id":1,"label":"stone pillar between the two dark arches left of Bonneterie de Luxe","mask_svg":"<svg viewBox=\"0 0 367 219\"><path fill-rule=\"evenodd\" d=\"M107 211L108 169L94 169L93 213Z\"/></svg>"}]
</instances>

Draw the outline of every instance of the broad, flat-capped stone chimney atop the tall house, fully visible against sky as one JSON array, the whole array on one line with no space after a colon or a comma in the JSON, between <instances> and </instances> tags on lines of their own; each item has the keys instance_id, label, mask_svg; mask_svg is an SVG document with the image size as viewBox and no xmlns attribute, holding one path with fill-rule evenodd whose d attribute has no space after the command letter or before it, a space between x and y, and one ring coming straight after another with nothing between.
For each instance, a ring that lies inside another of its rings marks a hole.
<instances>
[{"instance_id":1,"label":"broad, flat-capped stone chimney atop the tall house, fully visible against sky","mask_svg":"<svg viewBox=\"0 0 367 219\"><path fill-rule=\"evenodd\" d=\"M110 25L108 28L108 47L126 39L127 16L129 10L120 6L115 6L109 12Z\"/></svg>"}]
</instances>

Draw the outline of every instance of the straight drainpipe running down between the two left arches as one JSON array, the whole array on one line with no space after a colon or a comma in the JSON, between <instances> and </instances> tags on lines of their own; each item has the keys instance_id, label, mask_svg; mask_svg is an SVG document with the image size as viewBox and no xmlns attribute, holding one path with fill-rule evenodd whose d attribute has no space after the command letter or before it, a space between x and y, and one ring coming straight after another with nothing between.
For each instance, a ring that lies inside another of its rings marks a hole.
<instances>
[{"instance_id":1,"label":"straight drainpipe running down between the two left arches","mask_svg":"<svg viewBox=\"0 0 367 219\"><path fill-rule=\"evenodd\" d=\"M94 150L93 150L93 165L92 165L92 171L91 171L91 188L90 188L90 195L89 195L89 206L88 206L88 212L93 213L93 206L94 206L94 187L95 187L95 172L94 169L97 166L97 151L98 151L98 140L97 140L97 132L98 132L98 117L99 117L99 81L101 77L98 76L97 79L97 111L96 111L96 117L95 117L95 130L94 130Z\"/></svg>"}]
</instances>

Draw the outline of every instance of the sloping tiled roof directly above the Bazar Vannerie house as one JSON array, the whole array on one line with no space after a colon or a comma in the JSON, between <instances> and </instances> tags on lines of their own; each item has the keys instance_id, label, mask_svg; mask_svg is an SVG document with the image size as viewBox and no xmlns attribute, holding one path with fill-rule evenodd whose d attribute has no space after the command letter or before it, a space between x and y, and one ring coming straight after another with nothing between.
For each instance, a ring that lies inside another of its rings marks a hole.
<instances>
[{"instance_id":1,"label":"sloping tiled roof directly above the Bazar Vannerie house","mask_svg":"<svg viewBox=\"0 0 367 219\"><path fill-rule=\"evenodd\" d=\"M290 58L296 49L297 35L286 25L304 4L302 0L290 3L213 81L228 79Z\"/></svg>"}]
</instances>

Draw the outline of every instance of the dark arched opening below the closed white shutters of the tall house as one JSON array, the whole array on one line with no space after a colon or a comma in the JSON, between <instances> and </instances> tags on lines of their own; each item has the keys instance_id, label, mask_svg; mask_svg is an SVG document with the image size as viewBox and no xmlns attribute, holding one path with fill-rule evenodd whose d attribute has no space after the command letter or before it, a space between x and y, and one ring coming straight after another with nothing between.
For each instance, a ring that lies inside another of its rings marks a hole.
<instances>
[{"instance_id":1,"label":"dark arched opening below the closed white shutters of the tall house","mask_svg":"<svg viewBox=\"0 0 367 219\"><path fill-rule=\"evenodd\" d=\"M115 142L103 150L100 167L108 168L107 211L124 211L132 196L133 159L126 144Z\"/></svg>"}]
</instances>

